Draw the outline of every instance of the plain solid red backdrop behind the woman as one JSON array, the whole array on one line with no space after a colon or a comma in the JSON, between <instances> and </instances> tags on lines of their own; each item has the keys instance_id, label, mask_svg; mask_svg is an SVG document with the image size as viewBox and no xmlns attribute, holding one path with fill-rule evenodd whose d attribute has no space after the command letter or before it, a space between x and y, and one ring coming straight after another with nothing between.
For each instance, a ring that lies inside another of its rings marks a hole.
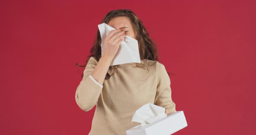
<instances>
[{"instance_id":1,"label":"plain solid red backdrop behind the woman","mask_svg":"<svg viewBox=\"0 0 256 135\"><path fill-rule=\"evenodd\" d=\"M87 135L75 103L97 25L128 8L157 44L188 126L175 135L255 133L253 0L1 1L2 135ZM77 72L77 70L79 70ZM100 126L100 125L99 125Z\"/></svg>"}]
</instances>

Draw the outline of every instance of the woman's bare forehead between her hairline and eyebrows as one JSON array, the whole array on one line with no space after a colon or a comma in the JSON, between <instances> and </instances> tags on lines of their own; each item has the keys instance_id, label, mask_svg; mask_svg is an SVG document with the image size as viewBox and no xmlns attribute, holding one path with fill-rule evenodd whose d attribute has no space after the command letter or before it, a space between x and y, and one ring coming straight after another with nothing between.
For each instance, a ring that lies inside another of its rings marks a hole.
<instances>
[{"instance_id":1,"label":"woman's bare forehead between her hairline and eyebrows","mask_svg":"<svg viewBox=\"0 0 256 135\"><path fill-rule=\"evenodd\" d=\"M125 16L118 16L118 17L112 18L108 22L108 25L115 28L115 29L119 29L121 27L131 28L130 19L128 17L125 17Z\"/></svg>"}]
</instances>

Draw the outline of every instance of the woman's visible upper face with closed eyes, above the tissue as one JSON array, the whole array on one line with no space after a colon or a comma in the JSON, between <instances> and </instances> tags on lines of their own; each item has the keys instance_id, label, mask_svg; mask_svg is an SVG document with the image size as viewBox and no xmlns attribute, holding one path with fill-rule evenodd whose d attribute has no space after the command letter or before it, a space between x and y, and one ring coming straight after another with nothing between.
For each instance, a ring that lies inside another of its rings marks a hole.
<instances>
[{"instance_id":1,"label":"woman's visible upper face with closed eyes, above the tissue","mask_svg":"<svg viewBox=\"0 0 256 135\"><path fill-rule=\"evenodd\" d=\"M112 18L108 22L108 25L115 29L120 29L121 31L125 31L125 35L128 35L136 39L135 32L133 30L130 19L128 17L118 16L118 17Z\"/></svg>"}]
</instances>

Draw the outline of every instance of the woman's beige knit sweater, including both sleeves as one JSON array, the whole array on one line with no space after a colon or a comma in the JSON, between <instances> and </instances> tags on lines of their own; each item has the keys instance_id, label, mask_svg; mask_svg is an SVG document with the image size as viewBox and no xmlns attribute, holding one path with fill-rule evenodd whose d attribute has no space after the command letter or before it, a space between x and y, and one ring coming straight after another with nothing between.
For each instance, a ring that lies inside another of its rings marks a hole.
<instances>
[{"instance_id":1,"label":"woman's beige knit sweater, including both sleeves","mask_svg":"<svg viewBox=\"0 0 256 135\"><path fill-rule=\"evenodd\" d=\"M145 60L141 63L145 64ZM149 65L154 62L147 61ZM126 130L140 124L131 119L146 103L176 112L171 98L171 81L163 64L157 61L148 66L149 74L147 69L136 67L135 63L120 64L118 71L101 85L91 76L97 63L94 57L89 59L75 91L75 101L82 110L89 111L96 105L89 135L126 135ZM113 71L109 69L108 73Z\"/></svg>"}]
</instances>

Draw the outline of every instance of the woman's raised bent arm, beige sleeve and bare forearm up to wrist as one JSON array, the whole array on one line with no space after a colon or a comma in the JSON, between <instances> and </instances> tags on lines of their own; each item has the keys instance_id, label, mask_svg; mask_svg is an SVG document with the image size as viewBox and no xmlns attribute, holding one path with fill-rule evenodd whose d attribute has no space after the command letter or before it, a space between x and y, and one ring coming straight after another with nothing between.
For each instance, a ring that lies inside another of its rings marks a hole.
<instances>
[{"instance_id":1,"label":"woman's raised bent arm, beige sleeve and bare forearm up to wrist","mask_svg":"<svg viewBox=\"0 0 256 135\"><path fill-rule=\"evenodd\" d=\"M75 92L75 101L82 110L89 111L98 102L110 63L111 60L107 57L102 57L99 61L94 57L89 59Z\"/></svg>"}]
</instances>

